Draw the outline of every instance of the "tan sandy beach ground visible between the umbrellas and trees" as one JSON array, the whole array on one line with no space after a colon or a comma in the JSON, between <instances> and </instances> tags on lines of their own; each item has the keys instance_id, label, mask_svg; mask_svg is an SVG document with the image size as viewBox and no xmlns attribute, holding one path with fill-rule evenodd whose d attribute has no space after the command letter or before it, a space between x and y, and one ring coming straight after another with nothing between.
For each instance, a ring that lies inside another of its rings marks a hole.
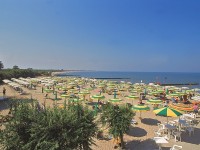
<instances>
[{"instance_id":1,"label":"tan sandy beach ground visible between the umbrellas and trees","mask_svg":"<svg viewBox=\"0 0 200 150\"><path fill-rule=\"evenodd\" d=\"M3 84L0 86L0 97L3 96L2 90L3 87L6 88L6 98L16 98L16 99L37 99L39 103L44 103L46 101L47 105L52 105L55 103L53 100L55 95L52 93L48 94L48 97L46 98L46 92L42 93L42 85L37 84L36 89L28 89L25 87L22 87L24 94L20 94L16 90L14 90L12 87ZM85 86L84 88L88 87ZM97 94L99 92L100 88L96 88L91 91L90 94L86 95L86 99L90 99L91 95ZM124 95L127 95L128 92L124 92ZM108 93L103 93L103 95L106 97L106 99L113 98L113 95L109 95ZM123 100L123 103L131 103L131 104L138 104L138 100L129 100L125 98L123 95L118 95L118 98L121 98ZM64 102L64 99L60 97L58 94L58 98L60 100L57 100L57 104L60 105ZM147 96L148 98L148 96ZM96 102L96 100L94 100ZM146 103L146 100L143 100L144 103ZM154 132L157 131L158 123L164 123L166 122L166 117L156 116L152 112L152 105L149 105L151 107L150 111L144 111L141 113L141 119L139 118L139 112L136 112L136 115L134 117L134 120L137 121L137 124L132 125L130 127L130 131L124 136L124 140L126 142L126 149L130 150L153 150L158 148L157 144L155 143L152 138L155 136ZM9 111L9 106L7 105L7 100L1 100L0 101L0 112L1 115L6 115ZM178 119L178 117L168 118L170 120ZM200 120L199 117L196 118L198 121ZM105 131L106 132L106 131ZM199 150L200 148L200 125L197 123L195 125L195 133L192 136L189 136L188 132L182 133L182 141L175 142L174 138L169 139L169 143L162 144L162 149L168 150L170 149L174 144L183 146L183 150L187 150L189 148L192 148L193 150ZM114 149L115 143L113 140L97 140L94 139L96 146L93 145L92 149L94 150L112 150Z\"/></svg>"}]
</instances>

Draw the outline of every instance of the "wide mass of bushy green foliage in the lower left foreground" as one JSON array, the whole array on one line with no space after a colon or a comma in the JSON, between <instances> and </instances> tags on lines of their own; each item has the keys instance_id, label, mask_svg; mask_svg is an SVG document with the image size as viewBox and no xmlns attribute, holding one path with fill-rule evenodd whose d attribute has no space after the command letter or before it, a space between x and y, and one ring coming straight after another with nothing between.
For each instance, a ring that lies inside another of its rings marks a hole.
<instances>
[{"instance_id":1,"label":"wide mass of bushy green foliage in the lower left foreground","mask_svg":"<svg viewBox=\"0 0 200 150\"><path fill-rule=\"evenodd\" d=\"M19 103L0 140L6 150L89 150L96 131L93 113L82 105L61 109Z\"/></svg>"}]
</instances>

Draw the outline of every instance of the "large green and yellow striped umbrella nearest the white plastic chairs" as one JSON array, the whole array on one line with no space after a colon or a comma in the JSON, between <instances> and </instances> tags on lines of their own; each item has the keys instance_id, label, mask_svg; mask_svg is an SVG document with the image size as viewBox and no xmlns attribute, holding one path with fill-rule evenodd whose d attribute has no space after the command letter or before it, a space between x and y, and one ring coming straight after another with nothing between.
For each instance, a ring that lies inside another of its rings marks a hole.
<instances>
[{"instance_id":1,"label":"large green and yellow striped umbrella nearest the white plastic chairs","mask_svg":"<svg viewBox=\"0 0 200 150\"><path fill-rule=\"evenodd\" d=\"M159 108L154 110L153 112L158 116L167 117L167 122L168 122L168 117L178 117L183 114L182 111L170 107Z\"/></svg>"}]
</instances>

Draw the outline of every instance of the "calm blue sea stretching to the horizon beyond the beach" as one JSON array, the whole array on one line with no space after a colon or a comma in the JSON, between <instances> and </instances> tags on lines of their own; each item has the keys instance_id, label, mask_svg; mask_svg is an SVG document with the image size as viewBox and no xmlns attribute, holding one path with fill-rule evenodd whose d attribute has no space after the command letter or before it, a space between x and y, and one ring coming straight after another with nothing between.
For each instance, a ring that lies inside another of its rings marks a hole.
<instances>
[{"instance_id":1,"label":"calm blue sea stretching to the horizon beyond the beach","mask_svg":"<svg viewBox=\"0 0 200 150\"><path fill-rule=\"evenodd\" d=\"M181 84L178 86L200 88L200 73L186 72L117 72L117 71L72 71L61 76L76 76L131 83ZM185 85L184 85L185 84ZM195 84L195 85L193 85ZM177 85L176 85L177 86Z\"/></svg>"}]
</instances>

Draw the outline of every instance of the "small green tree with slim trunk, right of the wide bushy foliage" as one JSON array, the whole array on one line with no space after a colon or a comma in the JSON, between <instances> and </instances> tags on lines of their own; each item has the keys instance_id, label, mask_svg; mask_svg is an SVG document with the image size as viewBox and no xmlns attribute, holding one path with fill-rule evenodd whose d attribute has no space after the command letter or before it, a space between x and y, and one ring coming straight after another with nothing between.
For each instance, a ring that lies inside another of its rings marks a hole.
<instances>
[{"instance_id":1,"label":"small green tree with slim trunk, right of the wide bushy foliage","mask_svg":"<svg viewBox=\"0 0 200 150\"><path fill-rule=\"evenodd\" d=\"M101 121L107 125L114 138L119 138L121 148L124 148L123 135L129 130L131 120L135 115L128 105L113 105L108 103L102 107Z\"/></svg>"}]
</instances>

